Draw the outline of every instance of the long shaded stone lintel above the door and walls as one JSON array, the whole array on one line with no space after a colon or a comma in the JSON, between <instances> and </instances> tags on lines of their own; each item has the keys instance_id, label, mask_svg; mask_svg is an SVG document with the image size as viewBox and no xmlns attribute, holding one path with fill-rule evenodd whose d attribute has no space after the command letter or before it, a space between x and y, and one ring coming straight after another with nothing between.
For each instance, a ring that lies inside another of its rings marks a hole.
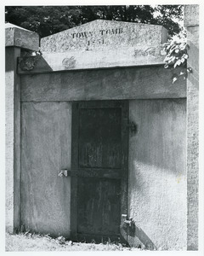
<instances>
[{"instance_id":1,"label":"long shaded stone lintel above the door and walls","mask_svg":"<svg viewBox=\"0 0 204 256\"><path fill-rule=\"evenodd\" d=\"M186 82L172 83L173 68L129 67L21 76L21 101L179 98ZM35 79L33 79L35 78Z\"/></svg>"}]
</instances>

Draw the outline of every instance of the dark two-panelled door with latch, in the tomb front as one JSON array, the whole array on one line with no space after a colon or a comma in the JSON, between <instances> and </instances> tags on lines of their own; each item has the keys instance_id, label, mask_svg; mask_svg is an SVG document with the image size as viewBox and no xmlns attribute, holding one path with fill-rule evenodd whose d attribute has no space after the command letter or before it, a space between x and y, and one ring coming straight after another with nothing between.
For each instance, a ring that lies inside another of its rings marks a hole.
<instances>
[{"instance_id":1,"label":"dark two-panelled door with latch, in the tomb front","mask_svg":"<svg viewBox=\"0 0 204 256\"><path fill-rule=\"evenodd\" d=\"M127 118L125 101L72 106L71 239L126 241Z\"/></svg>"}]
</instances>

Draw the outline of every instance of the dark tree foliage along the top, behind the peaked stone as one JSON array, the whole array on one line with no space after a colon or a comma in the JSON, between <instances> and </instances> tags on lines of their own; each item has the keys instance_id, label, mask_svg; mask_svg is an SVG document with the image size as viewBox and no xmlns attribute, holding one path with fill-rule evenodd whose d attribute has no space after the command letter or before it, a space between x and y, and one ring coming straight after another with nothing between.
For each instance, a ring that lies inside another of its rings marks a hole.
<instances>
[{"instance_id":1,"label":"dark tree foliage along the top, behind the peaked stone","mask_svg":"<svg viewBox=\"0 0 204 256\"><path fill-rule=\"evenodd\" d=\"M170 35L180 31L182 5L6 6L5 20L37 32L40 38L92 20L121 20L163 25Z\"/></svg>"}]
</instances>

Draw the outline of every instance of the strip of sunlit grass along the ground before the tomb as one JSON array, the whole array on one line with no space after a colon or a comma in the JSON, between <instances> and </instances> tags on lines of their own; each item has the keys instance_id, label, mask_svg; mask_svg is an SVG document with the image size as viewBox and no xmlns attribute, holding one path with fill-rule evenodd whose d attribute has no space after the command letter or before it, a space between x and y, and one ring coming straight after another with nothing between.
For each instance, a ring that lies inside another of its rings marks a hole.
<instances>
[{"instance_id":1,"label":"strip of sunlit grass along the ground before the tomb","mask_svg":"<svg viewBox=\"0 0 204 256\"><path fill-rule=\"evenodd\" d=\"M85 243L66 241L63 236L52 238L29 232L20 234L6 233L6 252L23 251L139 251L139 248L123 247L122 244Z\"/></svg>"}]
</instances>

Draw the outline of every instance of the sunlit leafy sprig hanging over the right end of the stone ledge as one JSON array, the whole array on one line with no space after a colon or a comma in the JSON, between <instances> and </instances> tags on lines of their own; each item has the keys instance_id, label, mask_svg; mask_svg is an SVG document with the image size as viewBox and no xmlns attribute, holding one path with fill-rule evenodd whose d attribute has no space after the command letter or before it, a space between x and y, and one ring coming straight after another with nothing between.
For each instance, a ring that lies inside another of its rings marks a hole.
<instances>
[{"instance_id":1,"label":"sunlit leafy sprig hanging over the right end of the stone ledge","mask_svg":"<svg viewBox=\"0 0 204 256\"><path fill-rule=\"evenodd\" d=\"M167 52L167 55L164 59L164 62L166 62L164 66L165 68L169 67L169 65L173 65L174 68L178 66L185 67L184 71L173 74L173 83L178 79L178 77L181 76L183 79L186 79L188 73L192 72L190 67L186 68L187 59L189 57L188 49L190 49L190 46L187 44L186 31L183 30L177 35L174 35L172 38L168 39L167 43L164 44L164 49Z\"/></svg>"}]
</instances>

